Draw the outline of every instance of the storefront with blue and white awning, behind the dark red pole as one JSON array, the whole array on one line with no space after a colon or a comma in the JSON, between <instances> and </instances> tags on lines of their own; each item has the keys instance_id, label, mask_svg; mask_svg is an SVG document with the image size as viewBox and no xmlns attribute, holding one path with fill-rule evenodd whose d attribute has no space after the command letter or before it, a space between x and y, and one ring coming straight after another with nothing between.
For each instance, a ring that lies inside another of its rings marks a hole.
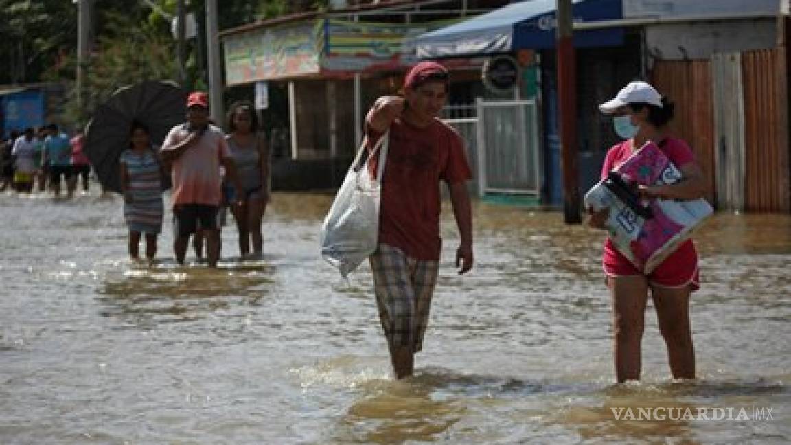
<instances>
[{"instance_id":1,"label":"storefront with blue and white awning, behind the dark red pole","mask_svg":"<svg viewBox=\"0 0 791 445\"><path fill-rule=\"evenodd\" d=\"M512 128L508 132L514 135L513 141L490 139L485 134L487 127L501 133L502 127L508 127L509 123L520 126L523 123L513 116L500 116L495 123L485 121L494 118L479 116L479 126L483 127L484 135L478 138L478 158L483 162L490 160L488 165L479 168L479 177L484 182L480 193L483 197L501 195L501 190L531 193L537 188L535 195L540 203L557 205L562 202L554 62L555 5L555 0L514 3L418 37L417 54L421 59L511 55L520 61L521 69L526 73L522 76L517 97L519 100L535 99L536 112L529 112L529 107L528 112L520 107L511 109L536 120L528 123L527 127L537 128L539 135L524 138L518 128ZM573 3L576 23L616 21L622 17L621 0L579 0ZM604 150L612 142L611 132L602 131L596 105L615 86L641 76L640 37L638 33L621 27L608 27L575 32L574 44L577 48L580 184L585 188L596 181ZM520 147L517 150L525 152L514 152L513 147ZM498 161L504 157L517 162ZM526 165L532 163L539 165ZM538 171L539 177L524 174L528 171ZM524 178L520 184L510 180L520 177ZM531 180L539 181L537 187ZM512 185L502 188L498 184Z\"/></svg>"}]
</instances>

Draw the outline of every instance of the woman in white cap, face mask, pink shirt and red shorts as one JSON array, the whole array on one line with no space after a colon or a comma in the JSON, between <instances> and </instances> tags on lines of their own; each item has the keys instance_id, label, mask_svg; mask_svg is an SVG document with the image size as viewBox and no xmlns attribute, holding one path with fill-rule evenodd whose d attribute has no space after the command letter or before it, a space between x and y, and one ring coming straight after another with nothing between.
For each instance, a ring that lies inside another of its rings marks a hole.
<instances>
[{"instance_id":1,"label":"woman in white cap, face mask, pink shirt and red shorts","mask_svg":"<svg viewBox=\"0 0 791 445\"><path fill-rule=\"evenodd\" d=\"M624 139L607 153L602 179L646 142L652 141L681 170L675 184L640 186L646 198L694 200L704 196L706 183L687 143L668 135L667 124L674 106L645 82L631 82L611 101L599 106L613 116L615 132ZM592 213L589 225L604 229L608 211ZM673 378L694 378L695 360L689 302L698 289L698 253L687 240L650 273L638 270L607 238L604 272L613 300L615 333L615 376L618 382L639 380L641 340L645 327L645 304L649 293L657 310L659 328L668 348Z\"/></svg>"}]
</instances>

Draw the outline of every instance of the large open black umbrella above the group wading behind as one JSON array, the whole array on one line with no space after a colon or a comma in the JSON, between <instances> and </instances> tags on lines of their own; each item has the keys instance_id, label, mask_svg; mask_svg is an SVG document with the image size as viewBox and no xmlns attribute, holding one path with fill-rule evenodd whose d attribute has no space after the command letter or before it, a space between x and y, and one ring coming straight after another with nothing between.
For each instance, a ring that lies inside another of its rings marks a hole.
<instances>
[{"instance_id":1,"label":"large open black umbrella above the group wading behind","mask_svg":"<svg viewBox=\"0 0 791 445\"><path fill-rule=\"evenodd\" d=\"M187 92L175 83L145 81L118 89L97 108L85 129L84 150L105 189L121 191L118 159L130 146L132 121L145 124L151 143L161 145L186 120L186 104Z\"/></svg>"}]
</instances>

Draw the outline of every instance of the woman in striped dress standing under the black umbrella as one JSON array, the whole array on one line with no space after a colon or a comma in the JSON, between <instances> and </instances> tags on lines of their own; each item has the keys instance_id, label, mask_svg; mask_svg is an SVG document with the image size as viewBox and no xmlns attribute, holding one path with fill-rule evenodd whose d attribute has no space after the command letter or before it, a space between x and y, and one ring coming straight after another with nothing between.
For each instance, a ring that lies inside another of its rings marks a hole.
<instances>
[{"instance_id":1,"label":"woman in striped dress standing under the black umbrella","mask_svg":"<svg viewBox=\"0 0 791 445\"><path fill-rule=\"evenodd\" d=\"M123 151L119 164L123 215L129 226L129 257L139 259L140 235L146 234L146 259L153 262L165 211L162 199L165 171L157 150L151 146L148 127L137 120L131 125L131 146Z\"/></svg>"}]
</instances>

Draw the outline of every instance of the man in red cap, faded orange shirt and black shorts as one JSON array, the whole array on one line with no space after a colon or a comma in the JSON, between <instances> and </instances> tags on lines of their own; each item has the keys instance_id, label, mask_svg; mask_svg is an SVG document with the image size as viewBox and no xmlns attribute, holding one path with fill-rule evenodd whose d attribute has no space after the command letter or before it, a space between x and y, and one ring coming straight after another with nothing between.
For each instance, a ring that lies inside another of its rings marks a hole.
<instances>
[{"instance_id":1,"label":"man in red cap, faded orange shirt and black shorts","mask_svg":"<svg viewBox=\"0 0 791 445\"><path fill-rule=\"evenodd\" d=\"M200 228L206 236L206 261L217 267L220 256L218 211L221 203L220 165L241 193L225 134L209 124L209 98L196 91L187 97L187 123L173 127L162 146L162 160L171 165L173 184L173 250L176 261L184 264L191 234Z\"/></svg>"}]
</instances>

